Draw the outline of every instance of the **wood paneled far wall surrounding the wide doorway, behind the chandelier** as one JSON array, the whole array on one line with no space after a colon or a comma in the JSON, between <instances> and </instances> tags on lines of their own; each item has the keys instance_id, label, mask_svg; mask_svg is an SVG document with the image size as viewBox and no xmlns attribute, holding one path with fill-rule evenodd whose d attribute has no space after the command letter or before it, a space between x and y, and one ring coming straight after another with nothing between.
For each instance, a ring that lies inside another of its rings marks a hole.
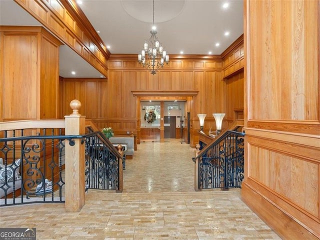
<instances>
[{"instance_id":1,"label":"wood paneled far wall surrounding the wide doorway, behind the chandelier","mask_svg":"<svg viewBox=\"0 0 320 240\"><path fill-rule=\"evenodd\" d=\"M243 36L226 50L224 61L227 63L224 63L224 68L229 68L233 62L240 60L242 64ZM140 96L143 95L144 100L174 100L174 97L183 95L186 99L184 116L186 117L186 112L190 112L190 145L194 146L198 142L197 130L200 128L196 114L207 114L204 130L208 131L211 127L212 130L215 129L212 113L226 112L226 120L223 123L226 127L235 119L234 109L243 108L243 73L234 73L234 79L223 80L221 56L170 57L169 64L155 75L140 66L136 55L111 54L108 60L107 80L61 78L63 114L69 111L68 102L77 98L84 104L80 110L81 114L92 118L99 127L111 126L115 132L133 131L137 134L139 142ZM243 69L243 65L240 68ZM226 100L229 97L226 91L230 94L231 101ZM232 108L231 111L227 111L227 104ZM184 135L186 137L186 134Z\"/></svg>"}]
</instances>

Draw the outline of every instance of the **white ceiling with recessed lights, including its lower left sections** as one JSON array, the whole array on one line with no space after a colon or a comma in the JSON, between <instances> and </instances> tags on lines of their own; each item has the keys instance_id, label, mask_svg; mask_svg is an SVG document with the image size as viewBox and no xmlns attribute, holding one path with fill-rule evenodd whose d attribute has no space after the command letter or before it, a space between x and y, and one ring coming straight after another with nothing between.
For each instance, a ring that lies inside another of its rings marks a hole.
<instances>
[{"instance_id":1,"label":"white ceiling with recessed lights, including its lower left sections","mask_svg":"<svg viewBox=\"0 0 320 240\"><path fill-rule=\"evenodd\" d=\"M150 37L152 0L82 0L78 5L111 54L137 54ZM154 23L168 54L221 54L243 33L243 0L154 0ZM0 25L41 24L13 0L0 0ZM65 45L59 67L63 77L103 77Z\"/></svg>"}]
</instances>

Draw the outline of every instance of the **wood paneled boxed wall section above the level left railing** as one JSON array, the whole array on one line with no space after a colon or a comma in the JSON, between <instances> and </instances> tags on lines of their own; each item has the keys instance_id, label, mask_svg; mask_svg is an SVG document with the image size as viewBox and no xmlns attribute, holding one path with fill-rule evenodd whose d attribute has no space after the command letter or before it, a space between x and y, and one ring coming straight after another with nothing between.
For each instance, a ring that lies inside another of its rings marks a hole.
<instances>
[{"instance_id":1,"label":"wood paneled boxed wall section above the level left railing","mask_svg":"<svg viewBox=\"0 0 320 240\"><path fill-rule=\"evenodd\" d=\"M0 26L0 121L58 118L60 44L42 27Z\"/></svg>"}]
</instances>

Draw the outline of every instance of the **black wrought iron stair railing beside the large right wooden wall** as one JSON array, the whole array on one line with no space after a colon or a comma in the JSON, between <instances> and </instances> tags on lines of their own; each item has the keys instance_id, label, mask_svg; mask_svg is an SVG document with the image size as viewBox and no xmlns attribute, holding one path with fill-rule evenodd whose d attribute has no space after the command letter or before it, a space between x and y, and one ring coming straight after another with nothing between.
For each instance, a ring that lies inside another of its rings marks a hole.
<instances>
[{"instance_id":1,"label":"black wrought iron stair railing beside the large right wooden wall","mask_svg":"<svg viewBox=\"0 0 320 240\"><path fill-rule=\"evenodd\" d=\"M239 188L244 177L244 132L225 131L192 160L195 189Z\"/></svg>"}]
</instances>

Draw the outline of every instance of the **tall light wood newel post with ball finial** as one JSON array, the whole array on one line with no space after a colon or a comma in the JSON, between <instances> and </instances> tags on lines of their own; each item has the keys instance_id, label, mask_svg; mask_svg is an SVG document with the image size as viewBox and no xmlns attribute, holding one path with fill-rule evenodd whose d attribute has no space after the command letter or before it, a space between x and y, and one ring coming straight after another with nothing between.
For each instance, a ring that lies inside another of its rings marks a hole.
<instances>
[{"instance_id":1,"label":"tall light wood newel post with ball finial","mask_svg":"<svg viewBox=\"0 0 320 240\"><path fill-rule=\"evenodd\" d=\"M85 116L78 112L79 100L72 100L73 112L65 118L65 135L82 135L85 133ZM65 210L80 211L84 205L84 144L81 139L74 139L75 144L65 142Z\"/></svg>"}]
</instances>

